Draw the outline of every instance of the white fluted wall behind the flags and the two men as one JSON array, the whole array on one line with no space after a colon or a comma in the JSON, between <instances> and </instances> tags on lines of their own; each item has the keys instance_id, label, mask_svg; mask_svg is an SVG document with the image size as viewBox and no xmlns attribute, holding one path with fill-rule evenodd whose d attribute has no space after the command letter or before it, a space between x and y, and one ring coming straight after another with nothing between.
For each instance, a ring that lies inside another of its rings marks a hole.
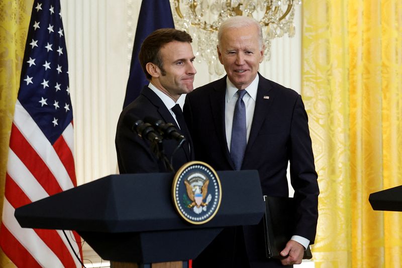
<instances>
[{"instance_id":1,"label":"white fluted wall behind the flags and the two men","mask_svg":"<svg viewBox=\"0 0 402 268\"><path fill-rule=\"evenodd\" d=\"M116 173L115 133L123 107L140 0L61 0L74 112L78 184ZM272 42L271 60L260 72L300 90L301 7L296 35ZM194 40L194 42L196 42ZM217 79L195 63L195 87Z\"/></svg>"}]
</instances>

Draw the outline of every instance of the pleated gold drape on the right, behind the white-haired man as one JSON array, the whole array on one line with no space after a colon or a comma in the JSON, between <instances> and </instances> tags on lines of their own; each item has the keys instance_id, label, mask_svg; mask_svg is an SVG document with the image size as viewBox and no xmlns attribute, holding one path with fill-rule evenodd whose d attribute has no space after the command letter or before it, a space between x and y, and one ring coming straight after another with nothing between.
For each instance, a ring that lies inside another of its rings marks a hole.
<instances>
[{"instance_id":1,"label":"pleated gold drape on the right, behind the white-haired man","mask_svg":"<svg viewBox=\"0 0 402 268\"><path fill-rule=\"evenodd\" d=\"M319 173L319 267L402 267L402 1L303 2L303 86Z\"/></svg>"}]
</instances>

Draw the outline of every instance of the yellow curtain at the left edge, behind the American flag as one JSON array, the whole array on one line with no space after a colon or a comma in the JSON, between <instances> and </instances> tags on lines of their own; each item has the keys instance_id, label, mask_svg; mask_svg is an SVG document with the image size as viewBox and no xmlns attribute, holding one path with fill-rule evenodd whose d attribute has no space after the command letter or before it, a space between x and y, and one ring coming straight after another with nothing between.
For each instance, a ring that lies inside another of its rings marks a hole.
<instances>
[{"instance_id":1,"label":"yellow curtain at the left edge, behind the American flag","mask_svg":"<svg viewBox=\"0 0 402 268\"><path fill-rule=\"evenodd\" d=\"M3 211L11 124L33 2L2 0L0 3L0 211ZM1 248L0 267L15 267Z\"/></svg>"}]
</instances>

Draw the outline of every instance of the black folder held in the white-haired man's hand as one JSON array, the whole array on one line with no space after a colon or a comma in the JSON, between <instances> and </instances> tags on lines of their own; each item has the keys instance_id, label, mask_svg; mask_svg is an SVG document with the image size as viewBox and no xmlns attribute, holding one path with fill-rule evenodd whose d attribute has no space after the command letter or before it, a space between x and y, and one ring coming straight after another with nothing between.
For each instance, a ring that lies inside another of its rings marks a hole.
<instances>
[{"instance_id":1,"label":"black folder held in the white-haired man's hand","mask_svg":"<svg viewBox=\"0 0 402 268\"><path fill-rule=\"evenodd\" d=\"M295 204L291 197L264 196L264 232L266 256L283 259L280 251L294 235ZM304 259L313 257L310 246L305 250Z\"/></svg>"}]
</instances>

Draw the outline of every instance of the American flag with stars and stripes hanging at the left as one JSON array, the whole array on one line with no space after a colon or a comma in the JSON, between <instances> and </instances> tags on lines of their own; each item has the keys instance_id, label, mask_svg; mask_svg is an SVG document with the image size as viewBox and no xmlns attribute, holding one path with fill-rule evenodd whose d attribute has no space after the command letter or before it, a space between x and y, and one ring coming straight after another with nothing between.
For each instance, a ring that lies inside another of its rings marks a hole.
<instances>
[{"instance_id":1,"label":"American flag with stars and stripes hanging at the left","mask_svg":"<svg viewBox=\"0 0 402 268\"><path fill-rule=\"evenodd\" d=\"M76 186L67 51L59 0L35 0L7 164L0 246L18 267L81 267L59 230L21 228L15 209ZM81 256L82 259L82 256Z\"/></svg>"}]
</instances>

